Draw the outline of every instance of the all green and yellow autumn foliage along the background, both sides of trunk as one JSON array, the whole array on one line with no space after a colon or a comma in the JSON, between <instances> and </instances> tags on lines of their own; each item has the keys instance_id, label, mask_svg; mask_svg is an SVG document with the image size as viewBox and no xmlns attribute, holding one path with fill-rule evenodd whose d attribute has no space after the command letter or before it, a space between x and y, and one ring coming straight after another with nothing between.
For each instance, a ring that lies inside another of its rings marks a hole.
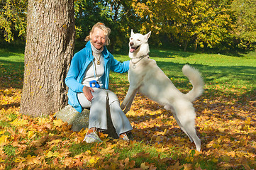
<instances>
[{"instance_id":1,"label":"all green and yellow autumn foliage along the background, both sides of trunk","mask_svg":"<svg viewBox=\"0 0 256 170\"><path fill-rule=\"evenodd\" d=\"M126 45L131 29L151 30L152 45L185 51L254 50L254 4L255 0L75 0L76 39L84 46L91 27L101 21L112 30L112 52ZM18 31L25 38L27 1L2 0L0 6L0 36L10 41Z\"/></svg>"}]
</instances>

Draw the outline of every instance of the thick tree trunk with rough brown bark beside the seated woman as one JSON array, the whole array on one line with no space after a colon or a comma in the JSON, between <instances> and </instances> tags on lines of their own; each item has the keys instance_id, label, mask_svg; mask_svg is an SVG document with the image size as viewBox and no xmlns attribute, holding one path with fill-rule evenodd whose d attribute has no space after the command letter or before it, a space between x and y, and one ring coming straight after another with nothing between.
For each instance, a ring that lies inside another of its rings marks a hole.
<instances>
[{"instance_id":1,"label":"thick tree trunk with rough brown bark beside the seated woman","mask_svg":"<svg viewBox=\"0 0 256 170\"><path fill-rule=\"evenodd\" d=\"M74 50L74 1L28 0L20 112L43 116L67 105L65 77Z\"/></svg>"}]
</instances>

